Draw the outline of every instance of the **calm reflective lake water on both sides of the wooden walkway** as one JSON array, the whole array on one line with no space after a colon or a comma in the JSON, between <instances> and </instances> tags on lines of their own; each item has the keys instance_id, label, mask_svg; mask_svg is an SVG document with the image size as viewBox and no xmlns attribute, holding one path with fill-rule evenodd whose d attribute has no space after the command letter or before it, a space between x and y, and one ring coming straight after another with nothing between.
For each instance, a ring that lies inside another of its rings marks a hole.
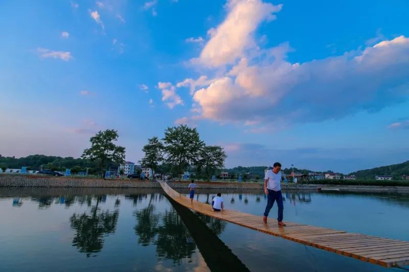
<instances>
[{"instance_id":1,"label":"calm reflective lake water on both sides of the wooden walkway","mask_svg":"<svg viewBox=\"0 0 409 272\"><path fill-rule=\"evenodd\" d=\"M283 195L284 220L409 241L407 194ZM222 197L259 215L267 202L262 191ZM193 213L156 189L3 188L0 218L0 271L387 270Z\"/></svg>"}]
</instances>

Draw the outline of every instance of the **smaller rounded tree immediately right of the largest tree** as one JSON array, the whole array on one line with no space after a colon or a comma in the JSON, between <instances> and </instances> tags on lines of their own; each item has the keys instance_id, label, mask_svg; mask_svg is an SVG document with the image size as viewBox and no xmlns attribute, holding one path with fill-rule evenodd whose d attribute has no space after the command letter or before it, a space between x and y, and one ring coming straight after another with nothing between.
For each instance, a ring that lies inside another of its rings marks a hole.
<instances>
[{"instance_id":1,"label":"smaller rounded tree immediately right of the largest tree","mask_svg":"<svg viewBox=\"0 0 409 272\"><path fill-rule=\"evenodd\" d=\"M205 145L200 150L200 164L206 167L206 176L209 180L211 172L222 169L227 158L223 147L218 145Z\"/></svg>"}]
</instances>

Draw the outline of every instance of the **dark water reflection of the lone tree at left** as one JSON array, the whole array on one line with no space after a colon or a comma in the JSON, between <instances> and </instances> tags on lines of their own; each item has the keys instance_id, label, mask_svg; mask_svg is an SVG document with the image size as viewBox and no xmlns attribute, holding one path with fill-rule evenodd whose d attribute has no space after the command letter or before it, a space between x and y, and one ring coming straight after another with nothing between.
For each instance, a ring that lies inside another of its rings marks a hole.
<instances>
[{"instance_id":1,"label":"dark water reflection of the lone tree at left","mask_svg":"<svg viewBox=\"0 0 409 272\"><path fill-rule=\"evenodd\" d=\"M100 252L104 244L104 236L114 233L117 227L119 211L102 211L98 208L102 197L97 197L97 204L92 206L90 212L83 214L74 213L70 217L71 228L75 230L73 245L78 251L90 257L93 253Z\"/></svg>"}]
</instances>

